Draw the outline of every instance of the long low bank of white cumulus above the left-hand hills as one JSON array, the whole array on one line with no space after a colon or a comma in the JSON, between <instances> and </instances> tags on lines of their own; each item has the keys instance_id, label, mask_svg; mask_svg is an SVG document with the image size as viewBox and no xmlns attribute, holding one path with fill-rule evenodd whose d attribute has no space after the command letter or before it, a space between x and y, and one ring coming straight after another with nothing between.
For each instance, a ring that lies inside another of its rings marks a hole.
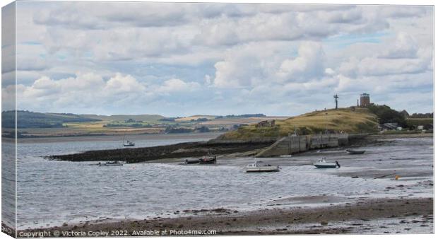
<instances>
[{"instance_id":1,"label":"long low bank of white cumulus above the left-hand hills","mask_svg":"<svg viewBox=\"0 0 438 239\"><path fill-rule=\"evenodd\" d=\"M74 77L59 80L42 76L31 86L18 84L17 98L20 110L59 112L62 109L61 112L70 112L78 108L93 108L104 111L112 107L127 109L133 103L147 105L154 100L165 100L162 95L184 95L200 88L199 83L185 82L179 78L148 85L121 73L112 74L107 80L94 73L77 73ZM2 89L4 100L11 98L13 93L13 86Z\"/></svg>"}]
</instances>

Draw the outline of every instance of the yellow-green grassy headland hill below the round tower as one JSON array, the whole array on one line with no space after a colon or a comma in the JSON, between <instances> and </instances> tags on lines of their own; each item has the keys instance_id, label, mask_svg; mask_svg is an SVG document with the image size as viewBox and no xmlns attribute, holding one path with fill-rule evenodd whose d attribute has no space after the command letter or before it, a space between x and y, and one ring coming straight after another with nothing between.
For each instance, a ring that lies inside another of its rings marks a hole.
<instances>
[{"instance_id":1,"label":"yellow-green grassy headland hill below the round tower","mask_svg":"<svg viewBox=\"0 0 438 239\"><path fill-rule=\"evenodd\" d=\"M263 137L320 132L365 133L377 132L378 119L368 109L350 108L309 112L304 115L276 120L274 127L256 127L256 124L239 127L227 132L219 139L257 139Z\"/></svg>"}]
</instances>

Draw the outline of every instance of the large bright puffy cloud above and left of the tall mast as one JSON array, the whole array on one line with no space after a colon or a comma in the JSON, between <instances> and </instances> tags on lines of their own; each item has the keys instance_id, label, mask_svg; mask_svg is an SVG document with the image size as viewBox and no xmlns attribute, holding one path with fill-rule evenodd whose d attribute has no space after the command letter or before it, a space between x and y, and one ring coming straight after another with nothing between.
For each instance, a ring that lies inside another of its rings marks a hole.
<instances>
[{"instance_id":1,"label":"large bright puffy cloud above and left of the tall mast","mask_svg":"<svg viewBox=\"0 0 438 239\"><path fill-rule=\"evenodd\" d=\"M218 88L254 87L266 83L304 82L324 75L324 51L319 42L253 42L233 47L216 62ZM260 50L257 50L260 49ZM263 50L261 50L263 49Z\"/></svg>"}]
</instances>

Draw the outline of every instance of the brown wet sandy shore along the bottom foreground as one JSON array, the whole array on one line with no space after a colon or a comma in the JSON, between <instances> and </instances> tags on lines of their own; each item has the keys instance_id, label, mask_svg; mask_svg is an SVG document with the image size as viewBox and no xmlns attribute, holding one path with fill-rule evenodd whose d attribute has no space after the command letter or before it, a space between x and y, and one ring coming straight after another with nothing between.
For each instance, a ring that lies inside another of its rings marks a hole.
<instances>
[{"instance_id":1,"label":"brown wet sandy shore along the bottom foreground","mask_svg":"<svg viewBox=\"0 0 438 239\"><path fill-rule=\"evenodd\" d=\"M321 198L309 199L320 201ZM26 230L122 231L138 235L145 231L211 231L219 235L318 234L318 233L433 233L433 199L360 199L355 203L288 209L239 212L229 209L175 211L178 218L85 222L76 225ZM379 222L379 223L376 223ZM393 225L398 225L393 228ZM391 228L392 227L392 228ZM20 233L20 232L19 232ZM160 234L161 235L161 234ZM115 236L115 235L114 235Z\"/></svg>"}]
</instances>

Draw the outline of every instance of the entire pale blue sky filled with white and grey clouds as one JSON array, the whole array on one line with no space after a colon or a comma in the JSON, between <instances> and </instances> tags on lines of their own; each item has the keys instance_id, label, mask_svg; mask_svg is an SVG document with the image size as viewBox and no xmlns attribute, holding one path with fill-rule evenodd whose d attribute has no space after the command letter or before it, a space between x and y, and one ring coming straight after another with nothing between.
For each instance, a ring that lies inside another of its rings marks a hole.
<instances>
[{"instance_id":1,"label":"entire pale blue sky filled with white and grey clouds","mask_svg":"<svg viewBox=\"0 0 438 239\"><path fill-rule=\"evenodd\" d=\"M396 110L433 111L432 6L21 1L16 10L20 110L298 115L334 107L335 93L341 107L369 93ZM5 102L13 67L2 78Z\"/></svg>"}]
</instances>

